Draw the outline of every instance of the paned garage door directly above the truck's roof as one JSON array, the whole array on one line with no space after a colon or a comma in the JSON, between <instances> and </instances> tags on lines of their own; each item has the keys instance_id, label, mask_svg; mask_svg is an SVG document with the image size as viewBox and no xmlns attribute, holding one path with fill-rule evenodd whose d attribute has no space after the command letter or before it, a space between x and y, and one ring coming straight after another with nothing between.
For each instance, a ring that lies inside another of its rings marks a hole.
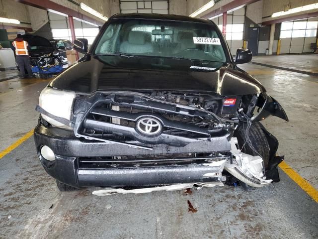
<instances>
[{"instance_id":1,"label":"paned garage door directly above the truck's roof","mask_svg":"<svg viewBox=\"0 0 318 239\"><path fill-rule=\"evenodd\" d=\"M120 0L121 13L169 13L169 1L165 0Z\"/></svg>"}]
</instances>

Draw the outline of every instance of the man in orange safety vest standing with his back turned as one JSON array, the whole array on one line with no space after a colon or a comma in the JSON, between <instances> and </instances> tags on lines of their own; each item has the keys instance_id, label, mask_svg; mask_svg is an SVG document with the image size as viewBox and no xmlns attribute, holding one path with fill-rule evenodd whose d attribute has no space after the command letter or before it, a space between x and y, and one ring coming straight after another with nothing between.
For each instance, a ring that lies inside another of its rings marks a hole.
<instances>
[{"instance_id":1,"label":"man in orange safety vest standing with his back turned","mask_svg":"<svg viewBox=\"0 0 318 239\"><path fill-rule=\"evenodd\" d=\"M28 78L35 78L35 76L32 75L28 43L23 41L21 34L17 34L16 38L12 42L12 45L14 46L15 51L15 62L17 63L20 70L20 78L26 78L25 69L28 73Z\"/></svg>"}]
</instances>

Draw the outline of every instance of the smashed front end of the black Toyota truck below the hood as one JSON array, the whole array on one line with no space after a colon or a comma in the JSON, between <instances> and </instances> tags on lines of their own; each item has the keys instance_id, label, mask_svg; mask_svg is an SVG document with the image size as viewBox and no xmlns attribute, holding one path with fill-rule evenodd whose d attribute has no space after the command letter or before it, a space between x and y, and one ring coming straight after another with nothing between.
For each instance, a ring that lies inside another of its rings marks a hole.
<instances>
[{"instance_id":1,"label":"smashed front end of the black Toyota truck below the hood","mask_svg":"<svg viewBox=\"0 0 318 239\"><path fill-rule=\"evenodd\" d=\"M58 90L46 88L41 95L52 91ZM127 186L147 188L135 192L140 193L158 191L157 186L177 190L240 181L263 187L279 181L277 165L283 157L276 156L278 141L256 121L269 115L288 119L266 93L229 98L211 93L97 91L74 96L70 119L49 113L43 104L37 111L41 120L35 140L41 162L50 175L75 188L115 188L101 194ZM50 134L48 130L54 139L43 136ZM261 142L251 140L255 130L263 136L256 138ZM54 161L42 155L43 145L54 152Z\"/></svg>"}]
</instances>

